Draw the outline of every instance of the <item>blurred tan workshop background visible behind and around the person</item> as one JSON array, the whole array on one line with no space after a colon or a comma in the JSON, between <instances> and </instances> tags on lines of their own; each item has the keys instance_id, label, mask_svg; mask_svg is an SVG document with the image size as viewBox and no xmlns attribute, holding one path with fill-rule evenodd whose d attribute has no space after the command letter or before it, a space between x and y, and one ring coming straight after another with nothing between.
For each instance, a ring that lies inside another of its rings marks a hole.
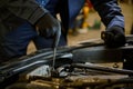
<instances>
[{"instance_id":1,"label":"blurred tan workshop background visible behind and around the person","mask_svg":"<svg viewBox=\"0 0 133 89\"><path fill-rule=\"evenodd\" d=\"M125 34L131 34L133 33L133 0L119 0L119 4L125 18ZM75 23L69 30L68 46L98 39L103 30L105 30L105 27L91 3L84 4L75 19ZM28 53L33 51L35 51L35 48L31 42L28 47Z\"/></svg>"}]
</instances>

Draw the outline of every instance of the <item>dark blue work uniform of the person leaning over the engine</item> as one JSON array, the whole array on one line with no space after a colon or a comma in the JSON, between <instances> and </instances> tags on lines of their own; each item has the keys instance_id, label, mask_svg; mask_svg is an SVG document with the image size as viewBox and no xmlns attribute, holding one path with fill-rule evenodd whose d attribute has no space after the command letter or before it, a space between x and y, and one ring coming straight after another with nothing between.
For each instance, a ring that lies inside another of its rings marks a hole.
<instances>
[{"instance_id":1,"label":"dark blue work uniform of the person leaning over the engine","mask_svg":"<svg viewBox=\"0 0 133 89\"><path fill-rule=\"evenodd\" d=\"M124 28L124 18L116 1L91 0L106 28L113 26ZM65 46L69 26L80 12L85 0L37 0L37 2L48 9L54 17L60 13L63 28L59 46ZM45 39L38 36L31 23L24 20L21 26L6 36L3 47L7 56L20 57L27 55L27 47L31 40L33 40L37 49L49 48L53 42L52 38Z\"/></svg>"}]
</instances>

